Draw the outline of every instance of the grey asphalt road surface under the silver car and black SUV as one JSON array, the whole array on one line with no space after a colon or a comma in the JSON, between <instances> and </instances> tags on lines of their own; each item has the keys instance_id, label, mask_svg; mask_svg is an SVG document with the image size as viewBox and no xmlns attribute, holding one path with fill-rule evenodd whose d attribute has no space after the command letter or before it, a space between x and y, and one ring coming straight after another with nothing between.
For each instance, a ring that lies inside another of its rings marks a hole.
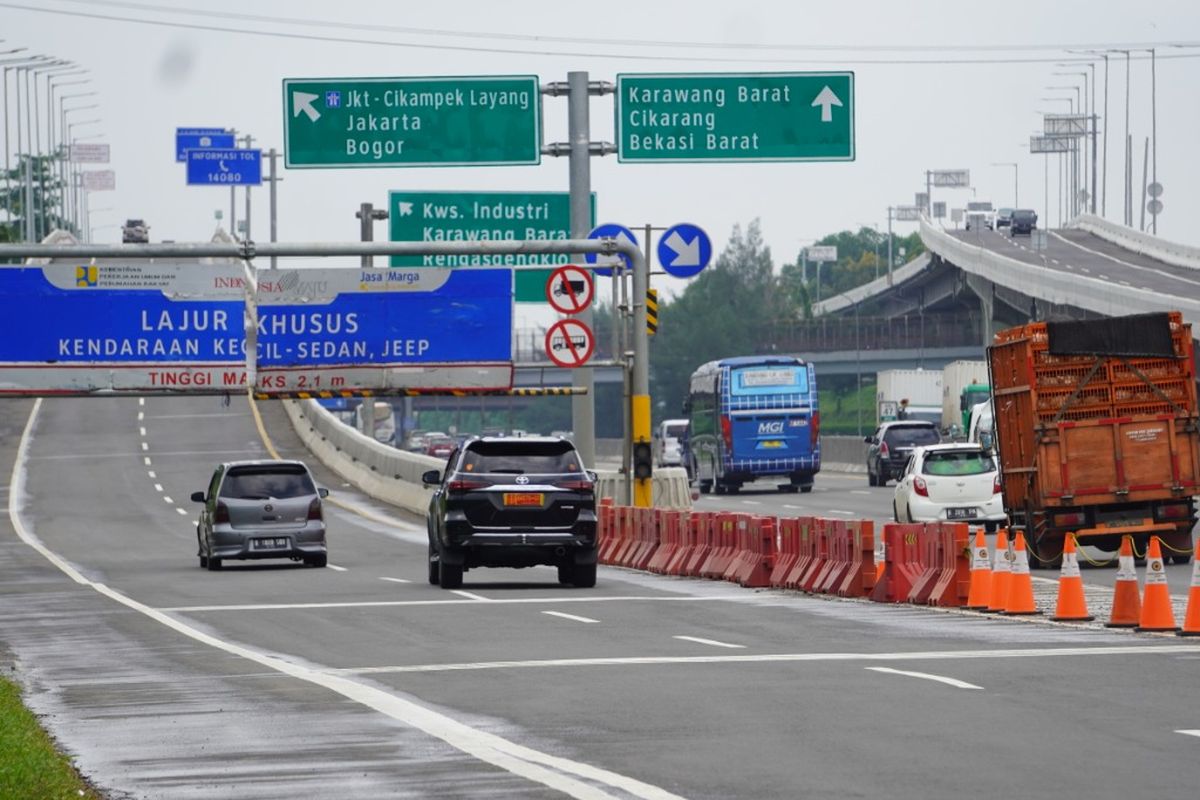
<instances>
[{"instance_id":1,"label":"grey asphalt road surface under the silver car and black SUV","mask_svg":"<svg viewBox=\"0 0 1200 800\"><path fill-rule=\"evenodd\" d=\"M0 661L114 798L1195 793L1200 642L607 567L448 593L312 459L329 569L200 570L186 498L268 452L244 398L0 403ZM852 477L780 499L888 491Z\"/></svg>"}]
</instances>

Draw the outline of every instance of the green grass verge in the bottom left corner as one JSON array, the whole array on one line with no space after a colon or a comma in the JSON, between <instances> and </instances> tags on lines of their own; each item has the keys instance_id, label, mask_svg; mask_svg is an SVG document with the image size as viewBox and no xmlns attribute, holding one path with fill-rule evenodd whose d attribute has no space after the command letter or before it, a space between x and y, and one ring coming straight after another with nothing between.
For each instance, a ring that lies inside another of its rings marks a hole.
<instances>
[{"instance_id":1,"label":"green grass verge in the bottom left corner","mask_svg":"<svg viewBox=\"0 0 1200 800\"><path fill-rule=\"evenodd\" d=\"M0 798L103 800L60 753L20 702L20 688L0 676Z\"/></svg>"}]
</instances>

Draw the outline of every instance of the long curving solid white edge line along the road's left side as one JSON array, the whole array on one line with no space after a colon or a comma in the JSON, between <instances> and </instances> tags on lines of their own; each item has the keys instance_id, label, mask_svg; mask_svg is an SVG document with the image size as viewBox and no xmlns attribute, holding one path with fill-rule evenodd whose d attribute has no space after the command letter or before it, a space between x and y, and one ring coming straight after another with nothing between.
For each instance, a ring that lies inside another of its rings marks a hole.
<instances>
[{"instance_id":1,"label":"long curving solid white edge line along the road's left side","mask_svg":"<svg viewBox=\"0 0 1200 800\"><path fill-rule=\"evenodd\" d=\"M17 535L22 541L41 553L48 561L50 561L50 564L61 570L64 575L76 583L90 587L95 591L125 606L126 608L143 614L196 642L206 644L223 652L246 658L247 661L262 664L268 669L274 669L284 675L290 675L292 678L328 688L329 691L336 692L342 697L374 709L376 711L379 711L380 714L384 714L404 724L412 726L413 728L422 730L431 736L436 736L468 756L473 756L482 762L535 783L541 783L558 792L563 792L572 798L580 798L580 800L614 800L613 795L570 777L571 775L605 783L637 798L642 798L643 800L684 800L679 795L672 794L666 789L649 783L643 783L636 778L611 772L598 766L592 766L590 764L572 762L566 758L542 753L530 747L509 741L503 736L498 736L485 730L478 730L449 716L418 705L416 703L389 694L388 692L372 686L366 686L358 681L349 680L338 674L295 664L283 658L259 652L245 645L218 639L217 637L204 633L203 631L199 631L181 620L168 616L161 610L140 603L132 597L127 597L115 589L109 589L102 583L89 581L67 561L42 545L42 542L29 531L24 521L20 518L18 498L24 497L25 462L29 456L30 443L29 434L37 420L37 411L41 408L41 398L37 398L34 402L34 410L29 415L29 421L25 423L25 429L22 433L20 444L17 447L17 458L13 462L12 480L10 482L8 518L12 522L13 530L17 531ZM562 772L565 772L566 775L563 775Z\"/></svg>"}]
</instances>

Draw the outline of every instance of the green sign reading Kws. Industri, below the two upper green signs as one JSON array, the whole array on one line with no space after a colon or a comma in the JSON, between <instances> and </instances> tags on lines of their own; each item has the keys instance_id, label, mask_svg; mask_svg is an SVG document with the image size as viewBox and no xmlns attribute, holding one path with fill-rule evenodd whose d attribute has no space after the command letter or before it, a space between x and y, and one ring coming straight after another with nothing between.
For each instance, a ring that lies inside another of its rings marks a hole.
<instances>
[{"instance_id":1,"label":"green sign reading Kws. Industri, below the two upper green signs","mask_svg":"<svg viewBox=\"0 0 1200 800\"><path fill-rule=\"evenodd\" d=\"M595 227L596 196L592 193ZM571 234L566 192L389 192L389 241L564 240ZM570 264L566 255L514 253L497 255L392 255L391 266L518 266L516 301L546 302L552 267Z\"/></svg>"}]
</instances>

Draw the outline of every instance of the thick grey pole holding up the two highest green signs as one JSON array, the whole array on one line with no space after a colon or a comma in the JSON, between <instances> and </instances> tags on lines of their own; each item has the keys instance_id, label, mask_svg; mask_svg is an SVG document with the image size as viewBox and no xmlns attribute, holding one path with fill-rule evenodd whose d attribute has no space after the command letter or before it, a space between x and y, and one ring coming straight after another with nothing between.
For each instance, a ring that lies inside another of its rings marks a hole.
<instances>
[{"instance_id":1,"label":"thick grey pole holding up the two highest green signs","mask_svg":"<svg viewBox=\"0 0 1200 800\"><path fill-rule=\"evenodd\" d=\"M588 73L569 72L566 73L566 84L571 237L587 239L588 231L592 229L592 134L589 131ZM588 327L593 327L592 308L584 308L577 319ZM578 449L583 463L589 468L595 468L595 373L592 367L583 367L576 372L576 385L586 393L571 398L571 428L575 431L575 446Z\"/></svg>"}]
</instances>

